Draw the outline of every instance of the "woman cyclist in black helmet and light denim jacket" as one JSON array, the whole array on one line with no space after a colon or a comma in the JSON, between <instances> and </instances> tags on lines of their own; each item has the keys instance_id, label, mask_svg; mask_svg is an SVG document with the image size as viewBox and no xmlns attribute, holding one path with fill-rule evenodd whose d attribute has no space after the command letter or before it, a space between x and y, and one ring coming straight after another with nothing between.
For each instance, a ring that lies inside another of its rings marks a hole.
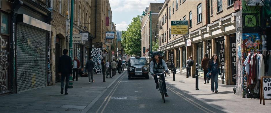
<instances>
[{"instance_id":1,"label":"woman cyclist in black helmet and light denim jacket","mask_svg":"<svg viewBox=\"0 0 271 113\"><path fill-rule=\"evenodd\" d=\"M158 84L158 78L157 75L155 75L155 73L163 73L164 71L166 73L168 73L168 66L165 63L165 60L163 60L161 57L159 57L160 53L155 51L153 52L153 60L151 60L150 62L150 73L153 75L154 77L154 81L156 83L156 89L159 88L159 84ZM164 86L164 90L165 90L165 97L168 97L167 92L167 88L165 85L165 75L160 75L162 81L163 81L163 86Z\"/></svg>"}]
</instances>

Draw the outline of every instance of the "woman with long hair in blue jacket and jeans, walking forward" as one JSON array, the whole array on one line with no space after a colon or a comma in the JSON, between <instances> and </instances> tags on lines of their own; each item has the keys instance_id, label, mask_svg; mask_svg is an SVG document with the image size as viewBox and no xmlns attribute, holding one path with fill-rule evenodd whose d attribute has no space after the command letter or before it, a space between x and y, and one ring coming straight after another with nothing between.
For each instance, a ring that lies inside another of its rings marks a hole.
<instances>
[{"instance_id":1,"label":"woman with long hair in blue jacket and jeans, walking forward","mask_svg":"<svg viewBox=\"0 0 271 113\"><path fill-rule=\"evenodd\" d=\"M214 54L211 58L211 60L208 62L208 73L207 75L209 75L211 77L211 92L215 92L217 93L217 88L218 88L218 75L221 75L220 73L220 61L217 58L217 54Z\"/></svg>"}]
</instances>

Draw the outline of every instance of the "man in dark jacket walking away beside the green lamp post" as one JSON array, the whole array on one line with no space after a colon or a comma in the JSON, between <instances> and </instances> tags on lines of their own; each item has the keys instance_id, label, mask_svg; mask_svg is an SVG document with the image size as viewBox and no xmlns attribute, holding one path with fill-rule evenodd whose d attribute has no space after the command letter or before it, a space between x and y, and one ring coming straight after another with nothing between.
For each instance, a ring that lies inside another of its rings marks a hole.
<instances>
[{"instance_id":1,"label":"man in dark jacket walking away beside the green lamp post","mask_svg":"<svg viewBox=\"0 0 271 113\"><path fill-rule=\"evenodd\" d=\"M68 85L69 85L69 76L72 75L72 66L71 66L71 57L67 55L68 49L63 50L63 55L59 58L59 75L61 76L61 91L63 94L64 88L64 79L66 78L65 83L65 95L68 95Z\"/></svg>"}]
</instances>

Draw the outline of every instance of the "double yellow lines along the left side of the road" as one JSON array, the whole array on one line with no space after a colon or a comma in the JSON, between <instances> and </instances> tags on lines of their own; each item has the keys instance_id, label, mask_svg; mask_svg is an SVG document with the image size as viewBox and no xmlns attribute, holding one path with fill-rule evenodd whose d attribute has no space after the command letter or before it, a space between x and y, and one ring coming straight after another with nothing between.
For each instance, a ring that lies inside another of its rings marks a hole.
<instances>
[{"instance_id":1,"label":"double yellow lines along the left side of the road","mask_svg":"<svg viewBox=\"0 0 271 113\"><path fill-rule=\"evenodd\" d=\"M99 109L96 111L96 113L98 113L101 109L101 107L103 106L104 103L106 103L103 106L103 109L101 110L101 113L103 113L103 111L106 109L106 106L108 105L112 95L114 94L114 92L116 91L116 89L118 88L118 85L121 83L122 79L124 78L125 74L122 74L121 79L117 82L117 84L114 86L114 88L110 91L110 93L106 96L106 98L104 99L103 103L100 105Z\"/></svg>"}]
</instances>

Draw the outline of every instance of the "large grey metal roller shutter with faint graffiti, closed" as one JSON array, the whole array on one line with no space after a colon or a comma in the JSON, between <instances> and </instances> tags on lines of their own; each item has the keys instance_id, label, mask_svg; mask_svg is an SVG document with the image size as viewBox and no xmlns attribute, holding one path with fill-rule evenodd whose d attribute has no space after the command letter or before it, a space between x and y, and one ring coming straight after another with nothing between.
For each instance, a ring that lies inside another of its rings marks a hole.
<instances>
[{"instance_id":1,"label":"large grey metal roller shutter with faint graffiti, closed","mask_svg":"<svg viewBox=\"0 0 271 113\"><path fill-rule=\"evenodd\" d=\"M17 92L46 86L46 32L17 24Z\"/></svg>"}]
</instances>

